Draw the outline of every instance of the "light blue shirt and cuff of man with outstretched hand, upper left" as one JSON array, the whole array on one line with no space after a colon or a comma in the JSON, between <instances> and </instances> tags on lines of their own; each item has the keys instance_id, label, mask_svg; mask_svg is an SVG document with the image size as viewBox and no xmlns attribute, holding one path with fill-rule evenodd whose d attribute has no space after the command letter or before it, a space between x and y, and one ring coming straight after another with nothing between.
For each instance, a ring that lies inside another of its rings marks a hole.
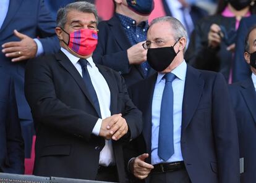
<instances>
[{"instance_id":1,"label":"light blue shirt and cuff of man with outstretched hand, upper left","mask_svg":"<svg viewBox=\"0 0 256 183\"><path fill-rule=\"evenodd\" d=\"M0 29L2 28L2 24L4 23L4 20L6 19L9 4L10 4L9 0L0 0ZM43 54L43 52L44 52L43 45L41 44L39 39L35 38L34 41L37 45L36 56Z\"/></svg>"}]
</instances>

